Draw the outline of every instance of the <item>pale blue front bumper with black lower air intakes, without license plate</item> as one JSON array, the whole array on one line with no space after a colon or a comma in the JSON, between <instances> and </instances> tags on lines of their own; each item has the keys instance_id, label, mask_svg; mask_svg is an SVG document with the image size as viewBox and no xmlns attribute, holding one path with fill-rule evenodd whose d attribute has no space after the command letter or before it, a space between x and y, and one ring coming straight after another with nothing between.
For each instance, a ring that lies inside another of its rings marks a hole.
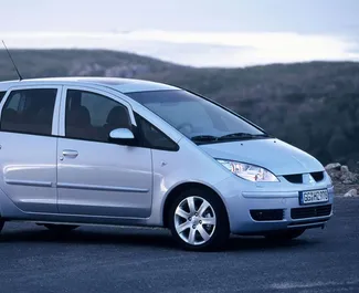
<instances>
[{"instance_id":1,"label":"pale blue front bumper with black lower air intakes, without license plate","mask_svg":"<svg viewBox=\"0 0 359 293\"><path fill-rule=\"evenodd\" d=\"M332 216L334 187L328 177L310 186L289 182L255 185L231 177L217 188L225 202L234 234L265 234L295 228L324 227ZM329 192L328 202L299 205L299 191L325 188ZM262 214L262 218L257 214ZM271 214L276 217L267 217Z\"/></svg>"}]
</instances>

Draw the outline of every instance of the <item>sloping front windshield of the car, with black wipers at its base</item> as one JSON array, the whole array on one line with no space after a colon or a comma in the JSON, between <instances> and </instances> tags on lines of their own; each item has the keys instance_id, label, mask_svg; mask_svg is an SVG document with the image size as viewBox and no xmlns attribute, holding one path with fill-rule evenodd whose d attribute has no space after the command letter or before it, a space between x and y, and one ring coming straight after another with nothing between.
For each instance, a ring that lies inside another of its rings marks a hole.
<instances>
[{"instance_id":1,"label":"sloping front windshield of the car, with black wipers at its base","mask_svg":"<svg viewBox=\"0 0 359 293\"><path fill-rule=\"evenodd\" d=\"M231 112L182 90L128 93L197 143L266 136Z\"/></svg>"}]
</instances>

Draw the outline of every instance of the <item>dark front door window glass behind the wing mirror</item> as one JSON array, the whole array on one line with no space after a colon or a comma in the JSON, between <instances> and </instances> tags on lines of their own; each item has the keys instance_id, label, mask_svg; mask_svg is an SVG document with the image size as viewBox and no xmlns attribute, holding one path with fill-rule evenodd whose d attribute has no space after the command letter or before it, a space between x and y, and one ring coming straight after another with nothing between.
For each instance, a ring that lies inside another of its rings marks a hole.
<instances>
[{"instance_id":1,"label":"dark front door window glass behind the wing mirror","mask_svg":"<svg viewBox=\"0 0 359 293\"><path fill-rule=\"evenodd\" d=\"M131 128L124 105L96 93L67 91L66 137L107 143L109 133L116 128Z\"/></svg>"}]
</instances>

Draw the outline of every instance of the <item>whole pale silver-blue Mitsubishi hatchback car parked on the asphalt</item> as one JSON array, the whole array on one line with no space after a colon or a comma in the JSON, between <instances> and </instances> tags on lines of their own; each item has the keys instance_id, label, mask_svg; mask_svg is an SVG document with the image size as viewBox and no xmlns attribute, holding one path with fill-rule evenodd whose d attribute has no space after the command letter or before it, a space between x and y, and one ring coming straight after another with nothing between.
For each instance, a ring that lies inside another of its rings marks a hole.
<instances>
[{"instance_id":1,"label":"whole pale silver-blue Mitsubishi hatchback car parked on the asphalt","mask_svg":"<svg viewBox=\"0 0 359 293\"><path fill-rule=\"evenodd\" d=\"M204 250L230 233L293 239L332 214L318 160L186 90L38 79L0 83L0 230L165 227Z\"/></svg>"}]
</instances>

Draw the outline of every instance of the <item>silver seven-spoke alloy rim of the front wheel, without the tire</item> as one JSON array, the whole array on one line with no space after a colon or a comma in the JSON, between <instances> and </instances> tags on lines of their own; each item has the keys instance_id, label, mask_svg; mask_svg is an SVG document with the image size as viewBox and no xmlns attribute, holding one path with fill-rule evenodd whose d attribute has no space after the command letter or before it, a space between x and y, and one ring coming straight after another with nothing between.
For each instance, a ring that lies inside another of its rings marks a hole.
<instances>
[{"instance_id":1,"label":"silver seven-spoke alloy rim of the front wheel, without the tire","mask_svg":"<svg viewBox=\"0 0 359 293\"><path fill-rule=\"evenodd\" d=\"M209 241L215 230L217 219L212 206L201 197L188 197L177 207L175 227L179 237L189 244Z\"/></svg>"}]
</instances>

